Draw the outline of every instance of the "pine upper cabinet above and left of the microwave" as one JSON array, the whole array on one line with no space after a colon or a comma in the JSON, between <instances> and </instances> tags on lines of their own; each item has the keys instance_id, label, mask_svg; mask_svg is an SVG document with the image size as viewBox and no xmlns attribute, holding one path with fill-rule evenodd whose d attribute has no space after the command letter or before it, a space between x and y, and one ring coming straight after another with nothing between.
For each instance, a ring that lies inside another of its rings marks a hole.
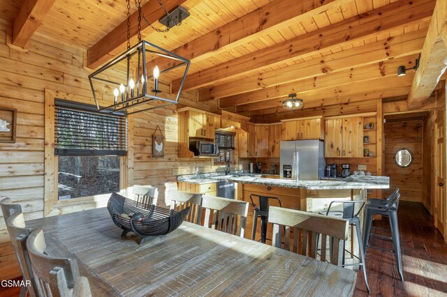
<instances>
[{"instance_id":1,"label":"pine upper cabinet above and left of the microwave","mask_svg":"<svg viewBox=\"0 0 447 297\"><path fill-rule=\"evenodd\" d=\"M185 107L177 110L179 119L179 158L192 158L189 138L197 137L214 141L214 132L220 128L221 116L200 109Z\"/></svg>"}]
</instances>

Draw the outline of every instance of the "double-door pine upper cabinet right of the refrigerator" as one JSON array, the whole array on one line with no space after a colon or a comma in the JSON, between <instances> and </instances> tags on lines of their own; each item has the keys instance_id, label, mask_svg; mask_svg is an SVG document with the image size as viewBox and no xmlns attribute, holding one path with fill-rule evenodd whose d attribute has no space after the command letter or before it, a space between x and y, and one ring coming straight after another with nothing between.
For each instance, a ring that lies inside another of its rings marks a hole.
<instances>
[{"instance_id":1,"label":"double-door pine upper cabinet right of the refrigerator","mask_svg":"<svg viewBox=\"0 0 447 297\"><path fill-rule=\"evenodd\" d=\"M363 157L363 118L325 119L325 158Z\"/></svg>"}]
</instances>

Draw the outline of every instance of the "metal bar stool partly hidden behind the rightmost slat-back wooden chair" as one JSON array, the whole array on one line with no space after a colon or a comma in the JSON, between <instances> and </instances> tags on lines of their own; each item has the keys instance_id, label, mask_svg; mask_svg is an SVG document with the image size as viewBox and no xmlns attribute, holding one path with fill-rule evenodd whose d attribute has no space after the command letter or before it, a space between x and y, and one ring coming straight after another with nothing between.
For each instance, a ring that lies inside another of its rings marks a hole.
<instances>
[{"instance_id":1,"label":"metal bar stool partly hidden behind the rightmost slat-back wooden chair","mask_svg":"<svg viewBox=\"0 0 447 297\"><path fill-rule=\"evenodd\" d=\"M331 211L330 208L332 208L332 204L343 204L343 211ZM357 212L355 211L356 204L360 204L360 207L358 208ZM356 257L357 259L359 259L360 262L356 263L356 264L345 264L344 263L344 253L343 253L342 267L360 266L360 268L362 268L362 270L363 270L363 276L365 277L366 289L369 294L369 284L368 284L368 280L367 280L367 276L366 276L366 265L365 265L365 249L363 248L362 234L360 232L360 218L358 218L358 214L360 213L360 211L362 210L364 205L365 205L365 201L332 201L329 204L328 211L321 211L320 214L348 220L349 224L356 227L358 248L360 249L360 258L354 254L352 254L352 255L353 255L353 257ZM332 248L332 245L330 245L330 247Z\"/></svg>"}]
</instances>

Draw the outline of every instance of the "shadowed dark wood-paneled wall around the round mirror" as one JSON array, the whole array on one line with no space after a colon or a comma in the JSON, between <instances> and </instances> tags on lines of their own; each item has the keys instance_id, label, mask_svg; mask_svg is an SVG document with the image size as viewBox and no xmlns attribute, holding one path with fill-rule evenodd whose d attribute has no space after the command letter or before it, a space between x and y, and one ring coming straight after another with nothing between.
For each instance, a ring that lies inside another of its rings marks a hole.
<instances>
[{"instance_id":1,"label":"shadowed dark wood-paneled wall around the round mirror","mask_svg":"<svg viewBox=\"0 0 447 297\"><path fill-rule=\"evenodd\" d=\"M423 121L385 123L385 175L390 176L390 190L400 188L400 199L422 202L423 190ZM414 157L410 167L400 168L394 163L394 153L408 148Z\"/></svg>"}]
</instances>

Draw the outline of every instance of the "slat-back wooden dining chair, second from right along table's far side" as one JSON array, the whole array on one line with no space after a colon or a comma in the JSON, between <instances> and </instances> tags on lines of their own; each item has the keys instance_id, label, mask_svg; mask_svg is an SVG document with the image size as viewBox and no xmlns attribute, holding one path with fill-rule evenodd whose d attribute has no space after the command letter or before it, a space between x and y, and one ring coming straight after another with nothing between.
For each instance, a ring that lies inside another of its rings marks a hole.
<instances>
[{"instance_id":1,"label":"slat-back wooden dining chair, second from right along table's far side","mask_svg":"<svg viewBox=\"0 0 447 297\"><path fill-rule=\"evenodd\" d=\"M248 202L204 195L202 207L205 208L205 227L211 224L212 229L244 237L249 212ZM237 227L238 219L239 227Z\"/></svg>"}]
</instances>

